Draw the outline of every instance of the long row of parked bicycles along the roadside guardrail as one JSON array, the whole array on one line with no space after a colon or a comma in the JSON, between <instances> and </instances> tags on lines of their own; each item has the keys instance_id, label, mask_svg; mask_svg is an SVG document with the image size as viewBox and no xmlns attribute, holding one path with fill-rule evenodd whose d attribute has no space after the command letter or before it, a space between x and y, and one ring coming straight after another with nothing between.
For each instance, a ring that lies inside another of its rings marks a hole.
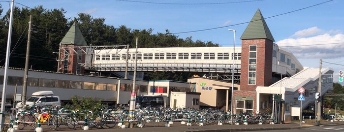
<instances>
[{"instance_id":1,"label":"long row of parked bicycles along the roadside guardrail","mask_svg":"<svg viewBox=\"0 0 344 132\"><path fill-rule=\"evenodd\" d=\"M49 109L36 107L19 109L13 115L11 127L23 131L66 131L94 130L111 128L210 126L210 125L250 125L273 124L271 116L241 113L230 115L227 112L211 109L171 109L137 108L134 118L129 118L128 108L108 108L93 113L89 110ZM11 127L9 127L11 129Z\"/></svg>"}]
</instances>

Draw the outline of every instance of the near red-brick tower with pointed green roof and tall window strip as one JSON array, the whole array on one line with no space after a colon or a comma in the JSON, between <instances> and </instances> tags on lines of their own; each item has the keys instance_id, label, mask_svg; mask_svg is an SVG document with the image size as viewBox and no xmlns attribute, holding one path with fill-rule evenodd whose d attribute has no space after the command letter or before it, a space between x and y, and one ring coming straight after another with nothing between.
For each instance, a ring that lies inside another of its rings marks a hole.
<instances>
[{"instance_id":1,"label":"near red-brick tower with pointed green roof and tall window strip","mask_svg":"<svg viewBox=\"0 0 344 132\"><path fill-rule=\"evenodd\" d=\"M272 52L275 41L259 9L240 39L240 90L233 93L236 100L233 106L237 106L234 112L247 111L255 114L256 87L272 84Z\"/></svg>"}]
</instances>

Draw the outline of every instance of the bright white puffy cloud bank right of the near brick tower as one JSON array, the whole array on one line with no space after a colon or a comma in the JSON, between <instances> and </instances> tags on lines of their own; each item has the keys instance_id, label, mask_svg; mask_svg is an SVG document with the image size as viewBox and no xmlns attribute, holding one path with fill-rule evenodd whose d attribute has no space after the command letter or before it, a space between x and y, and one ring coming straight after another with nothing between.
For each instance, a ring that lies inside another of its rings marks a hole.
<instances>
[{"instance_id":1,"label":"bright white puffy cloud bank right of the near brick tower","mask_svg":"<svg viewBox=\"0 0 344 132\"><path fill-rule=\"evenodd\" d=\"M296 58L335 59L343 56L344 34L339 30L323 32L312 27L298 31L293 36L276 42L280 47L293 53ZM318 34L322 33L322 34ZM317 35L315 35L317 34ZM310 36L314 35L314 36ZM300 37L310 36L310 37Z\"/></svg>"}]
</instances>

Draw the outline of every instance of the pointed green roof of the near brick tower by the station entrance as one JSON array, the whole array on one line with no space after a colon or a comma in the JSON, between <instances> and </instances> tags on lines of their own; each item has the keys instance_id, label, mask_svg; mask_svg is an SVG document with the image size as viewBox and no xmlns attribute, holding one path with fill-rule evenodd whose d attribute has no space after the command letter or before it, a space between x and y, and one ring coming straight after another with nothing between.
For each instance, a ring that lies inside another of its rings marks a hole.
<instances>
[{"instance_id":1,"label":"pointed green roof of the near brick tower by the station entrance","mask_svg":"<svg viewBox=\"0 0 344 132\"><path fill-rule=\"evenodd\" d=\"M268 25L266 24L263 15L260 13L259 8L255 12L253 18L251 19L249 25L246 27L243 35L240 39L259 39L267 38L271 41L275 41L272 36Z\"/></svg>"}]
</instances>

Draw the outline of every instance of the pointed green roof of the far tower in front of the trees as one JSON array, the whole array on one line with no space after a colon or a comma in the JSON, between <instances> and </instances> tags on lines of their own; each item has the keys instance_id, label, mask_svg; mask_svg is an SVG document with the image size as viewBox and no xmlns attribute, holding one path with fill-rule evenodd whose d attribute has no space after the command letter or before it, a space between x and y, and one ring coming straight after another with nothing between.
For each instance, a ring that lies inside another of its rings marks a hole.
<instances>
[{"instance_id":1,"label":"pointed green roof of the far tower in front of the trees","mask_svg":"<svg viewBox=\"0 0 344 132\"><path fill-rule=\"evenodd\" d=\"M64 37L60 43L62 45L63 44L74 44L74 45L78 45L78 46L87 46L85 38L82 35L76 22L73 23L72 27L70 27L70 29L64 35Z\"/></svg>"}]
</instances>

